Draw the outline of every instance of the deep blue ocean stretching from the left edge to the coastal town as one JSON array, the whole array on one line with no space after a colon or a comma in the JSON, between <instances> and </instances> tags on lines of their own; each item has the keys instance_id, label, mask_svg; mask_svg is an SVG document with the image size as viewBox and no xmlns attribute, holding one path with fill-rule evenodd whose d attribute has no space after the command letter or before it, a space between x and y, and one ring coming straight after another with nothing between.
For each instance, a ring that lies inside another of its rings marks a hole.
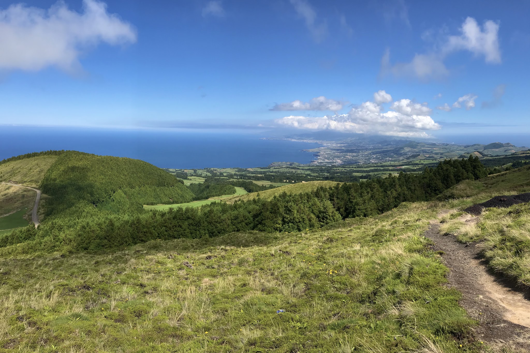
<instances>
[{"instance_id":1,"label":"deep blue ocean stretching from the left edge to the coastal town","mask_svg":"<svg viewBox=\"0 0 530 353\"><path fill-rule=\"evenodd\" d=\"M317 143L263 140L256 133L125 130L0 125L0 160L44 150L76 150L142 159L161 168L253 168L272 162L310 163Z\"/></svg>"}]
</instances>

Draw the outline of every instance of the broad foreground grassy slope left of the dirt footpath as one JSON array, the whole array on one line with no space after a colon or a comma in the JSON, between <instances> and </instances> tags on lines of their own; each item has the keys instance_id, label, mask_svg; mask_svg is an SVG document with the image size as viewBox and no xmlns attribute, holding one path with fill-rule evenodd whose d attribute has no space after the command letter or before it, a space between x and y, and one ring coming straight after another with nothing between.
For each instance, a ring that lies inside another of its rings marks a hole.
<instances>
[{"instance_id":1,"label":"broad foreground grassy slope left of the dirt footpath","mask_svg":"<svg viewBox=\"0 0 530 353\"><path fill-rule=\"evenodd\" d=\"M0 347L320 353L430 343L479 351L465 338L474 323L460 295L441 285L447 269L421 236L440 207L448 206L404 204L312 233L0 259Z\"/></svg>"}]
</instances>

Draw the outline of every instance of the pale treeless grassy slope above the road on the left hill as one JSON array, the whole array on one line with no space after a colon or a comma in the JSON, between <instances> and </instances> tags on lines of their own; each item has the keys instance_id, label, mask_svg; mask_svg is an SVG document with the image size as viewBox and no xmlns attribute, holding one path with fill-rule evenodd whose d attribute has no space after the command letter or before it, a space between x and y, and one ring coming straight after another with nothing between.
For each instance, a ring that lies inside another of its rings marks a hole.
<instances>
[{"instance_id":1,"label":"pale treeless grassy slope above the road on the left hill","mask_svg":"<svg viewBox=\"0 0 530 353\"><path fill-rule=\"evenodd\" d=\"M0 182L13 180L18 184L39 187L48 169L58 156L39 156L14 160L0 165Z\"/></svg>"}]
</instances>

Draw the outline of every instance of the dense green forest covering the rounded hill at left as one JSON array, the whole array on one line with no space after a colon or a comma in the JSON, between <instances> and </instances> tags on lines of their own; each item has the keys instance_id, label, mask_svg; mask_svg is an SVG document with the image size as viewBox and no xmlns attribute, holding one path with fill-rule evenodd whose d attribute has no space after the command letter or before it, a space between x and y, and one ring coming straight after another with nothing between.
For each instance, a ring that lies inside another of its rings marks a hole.
<instances>
[{"instance_id":1,"label":"dense green forest covering the rounded hill at left","mask_svg":"<svg viewBox=\"0 0 530 353\"><path fill-rule=\"evenodd\" d=\"M162 189L155 191L157 187ZM52 196L47 204L48 215L60 215L87 204L113 209L109 202L123 203L123 195L139 205L189 202L193 198L181 180L147 162L76 151L59 156L43 178L41 189Z\"/></svg>"}]
</instances>

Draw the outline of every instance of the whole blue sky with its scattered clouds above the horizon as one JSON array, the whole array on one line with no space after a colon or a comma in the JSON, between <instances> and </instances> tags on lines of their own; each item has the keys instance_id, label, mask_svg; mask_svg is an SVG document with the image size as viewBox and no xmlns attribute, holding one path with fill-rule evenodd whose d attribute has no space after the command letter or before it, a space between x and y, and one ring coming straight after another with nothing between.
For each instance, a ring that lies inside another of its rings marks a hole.
<instances>
[{"instance_id":1,"label":"whole blue sky with its scattered clouds above the horizon","mask_svg":"<svg viewBox=\"0 0 530 353\"><path fill-rule=\"evenodd\" d=\"M497 1L2 1L0 124L529 132L528 13Z\"/></svg>"}]
</instances>

